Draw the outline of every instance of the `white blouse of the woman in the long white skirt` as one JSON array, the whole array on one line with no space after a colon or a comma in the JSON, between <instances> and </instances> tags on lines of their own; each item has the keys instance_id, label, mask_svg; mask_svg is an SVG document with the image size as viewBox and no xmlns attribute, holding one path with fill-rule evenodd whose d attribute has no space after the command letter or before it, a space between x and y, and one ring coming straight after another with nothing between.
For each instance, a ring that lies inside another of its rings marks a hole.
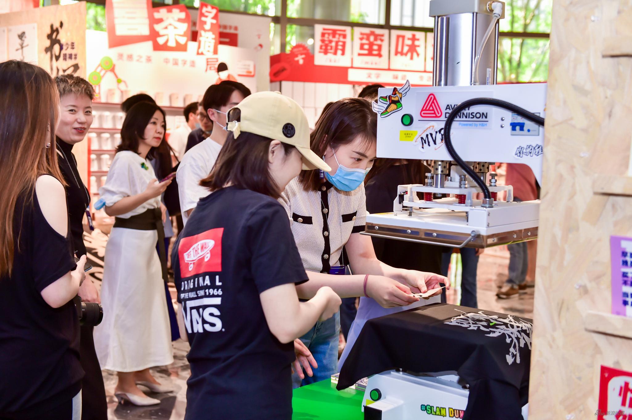
<instances>
[{"instance_id":1,"label":"white blouse of the woman in the long white skirt","mask_svg":"<svg viewBox=\"0 0 632 420\"><path fill-rule=\"evenodd\" d=\"M106 184L100 187L99 194L106 202L106 206L112 206L124 197L145 192L149 181L155 177L154 168L149 161L133 151L119 151L114 155L110 170L107 172ZM116 217L128 219L157 207L160 207L160 195L143 202L132 211Z\"/></svg>"}]
</instances>

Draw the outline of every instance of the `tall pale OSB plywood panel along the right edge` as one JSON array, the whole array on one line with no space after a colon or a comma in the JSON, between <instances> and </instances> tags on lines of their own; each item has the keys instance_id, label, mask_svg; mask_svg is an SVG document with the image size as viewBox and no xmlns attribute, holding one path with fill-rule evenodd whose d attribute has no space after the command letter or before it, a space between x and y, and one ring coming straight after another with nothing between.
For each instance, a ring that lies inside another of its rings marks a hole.
<instances>
[{"instance_id":1,"label":"tall pale OSB plywood panel along the right edge","mask_svg":"<svg viewBox=\"0 0 632 420\"><path fill-rule=\"evenodd\" d=\"M593 419L600 365L632 370L632 341L584 319L611 310L609 236L632 236L632 197L593 193L628 170L632 59L604 49L632 35L632 2L556 0L552 24L529 417Z\"/></svg>"}]
</instances>

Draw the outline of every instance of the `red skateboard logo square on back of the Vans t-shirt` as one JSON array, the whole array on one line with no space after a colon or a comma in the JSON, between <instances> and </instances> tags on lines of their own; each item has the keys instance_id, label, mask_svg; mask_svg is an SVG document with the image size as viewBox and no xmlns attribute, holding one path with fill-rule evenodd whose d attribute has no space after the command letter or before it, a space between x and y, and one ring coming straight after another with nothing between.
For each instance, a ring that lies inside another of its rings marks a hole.
<instances>
[{"instance_id":1,"label":"red skateboard logo square on back of the Vans t-shirt","mask_svg":"<svg viewBox=\"0 0 632 420\"><path fill-rule=\"evenodd\" d=\"M180 240L178 258L180 276L222 271L222 235L224 228L207 230Z\"/></svg>"}]
</instances>

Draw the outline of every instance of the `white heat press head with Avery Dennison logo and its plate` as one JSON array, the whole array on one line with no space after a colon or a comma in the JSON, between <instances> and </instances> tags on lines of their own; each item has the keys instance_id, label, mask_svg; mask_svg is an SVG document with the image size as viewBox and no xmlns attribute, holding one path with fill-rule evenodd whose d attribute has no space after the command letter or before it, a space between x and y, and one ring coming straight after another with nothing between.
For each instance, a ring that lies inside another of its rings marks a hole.
<instances>
[{"instance_id":1,"label":"white heat press head with Avery Dennison logo and its plate","mask_svg":"<svg viewBox=\"0 0 632 420\"><path fill-rule=\"evenodd\" d=\"M446 115L456 105L472 98L496 98L544 117L546 86L530 83L409 88L401 98L401 108L378 120L377 156L451 161L443 130ZM379 95L391 93L392 88L380 88ZM542 180L544 129L519 115L489 105L471 107L454 120L451 139L465 161L524 163L533 170L538 182ZM450 175L441 187L399 185L394 213L369 214L365 234L477 248L537 238L539 200L513 202L510 186L489 186L491 192L508 190L507 201L482 207L482 201L473 198L481 192L475 182L468 177L463 185L459 180L463 171L454 164ZM447 197L425 201L423 192ZM449 198L456 194L465 195L464 204Z\"/></svg>"}]
</instances>

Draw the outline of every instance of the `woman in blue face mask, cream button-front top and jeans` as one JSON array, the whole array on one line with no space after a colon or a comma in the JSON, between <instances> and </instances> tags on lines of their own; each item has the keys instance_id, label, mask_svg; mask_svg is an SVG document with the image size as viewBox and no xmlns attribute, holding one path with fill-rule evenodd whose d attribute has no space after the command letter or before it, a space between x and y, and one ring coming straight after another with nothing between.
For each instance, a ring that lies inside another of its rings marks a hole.
<instances>
[{"instance_id":1,"label":"woman in blue face mask, cream button-front top and jeans","mask_svg":"<svg viewBox=\"0 0 632 420\"><path fill-rule=\"evenodd\" d=\"M331 287L341 298L362 296L356 317L362 322L425 303L411 293L425 292L439 283L449 288L446 277L380 262L371 238L360 235L367 216L363 181L375 160L376 131L377 115L367 100L346 98L333 103L310 136L310 148L323 156L331 172L304 170L280 199L310 279L296 287L298 296L309 299L321 286ZM345 265L353 275L345 275ZM303 380L295 373L295 387L336 373L339 325L336 315L301 337L318 367ZM356 335L349 333L349 347Z\"/></svg>"}]
</instances>

